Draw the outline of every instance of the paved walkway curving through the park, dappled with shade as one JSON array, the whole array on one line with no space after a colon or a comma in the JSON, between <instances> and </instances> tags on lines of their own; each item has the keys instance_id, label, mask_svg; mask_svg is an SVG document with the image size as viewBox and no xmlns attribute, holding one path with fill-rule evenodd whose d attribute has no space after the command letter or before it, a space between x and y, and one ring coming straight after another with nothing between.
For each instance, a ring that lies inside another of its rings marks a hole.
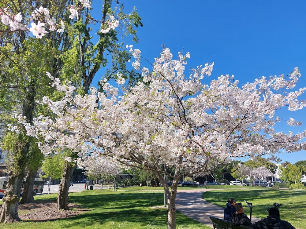
<instances>
[{"instance_id":1,"label":"paved walkway curving through the park, dappled with shade","mask_svg":"<svg viewBox=\"0 0 306 229\"><path fill-rule=\"evenodd\" d=\"M202 198L203 192L211 190L216 189L201 188L193 190L177 190L175 201L176 209L185 216L213 228L209 216L223 219L224 208L213 205ZM226 203L224 203L224 205L226 205ZM252 222L256 222L258 220L260 219L252 217Z\"/></svg>"}]
</instances>

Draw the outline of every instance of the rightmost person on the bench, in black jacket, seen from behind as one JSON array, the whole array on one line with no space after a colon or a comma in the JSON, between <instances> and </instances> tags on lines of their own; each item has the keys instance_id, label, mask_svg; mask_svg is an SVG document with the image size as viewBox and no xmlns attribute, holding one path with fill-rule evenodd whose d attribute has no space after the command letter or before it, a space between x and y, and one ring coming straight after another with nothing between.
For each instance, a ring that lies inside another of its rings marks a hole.
<instances>
[{"instance_id":1,"label":"rightmost person on the bench, in black jacket, seen from behind","mask_svg":"<svg viewBox=\"0 0 306 229\"><path fill-rule=\"evenodd\" d=\"M253 224L256 229L296 229L288 221L281 220L277 207L271 207L268 210L269 215L263 220Z\"/></svg>"}]
</instances>

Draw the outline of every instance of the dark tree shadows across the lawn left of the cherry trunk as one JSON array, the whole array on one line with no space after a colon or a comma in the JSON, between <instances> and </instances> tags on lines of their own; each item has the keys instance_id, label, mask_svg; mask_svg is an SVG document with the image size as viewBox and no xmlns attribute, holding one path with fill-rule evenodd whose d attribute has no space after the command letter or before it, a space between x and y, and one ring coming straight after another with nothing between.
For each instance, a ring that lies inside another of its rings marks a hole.
<instances>
[{"instance_id":1,"label":"dark tree shadows across the lawn left of the cherry trunk","mask_svg":"<svg viewBox=\"0 0 306 229\"><path fill-rule=\"evenodd\" d=\"M41 198L44 200L45 198ZM46 200L50 200L47 199ZM98 192L91 191L86 195L69 194L69 202L81 205L80 208L90 209L77 216L58 219L59 224L65 228L77 227L101 227L112 223L137 224L139 228L150 228L154 225L163 228L167 225L167 208L152 209L152 206L162 206L164 204L163 192L152 191L117 191ZM186 220L186 216L177 213L177 225L199 224L194 220ZM38 222L38 221L32 221ZM203 224L202 224L203 225ZM115 228L115 227L114 227ZM132 228L132 227L128 227Z\"/></svg>"}]
</instances>

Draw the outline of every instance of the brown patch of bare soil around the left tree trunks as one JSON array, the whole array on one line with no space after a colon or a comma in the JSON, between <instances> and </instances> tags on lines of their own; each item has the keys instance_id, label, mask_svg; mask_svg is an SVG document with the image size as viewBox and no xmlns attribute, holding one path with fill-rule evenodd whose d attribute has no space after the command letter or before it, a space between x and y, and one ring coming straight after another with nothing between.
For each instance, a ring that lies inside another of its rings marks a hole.
<instances>
[{"instance_id":1,"label":"brown patch of bare soil around the left tree trunks","mask_svg":"<svg viewBox=\"0 0 306 229\"><path fill-rule=\"evenodd\" d=\"M56 201L35 202L33 204L18 205L18 216L21 220L57 220L78 215L85 211L80 209L80 205L68 204L68 211L53 212L56 206Z\"/></svg>"}]
</instances>

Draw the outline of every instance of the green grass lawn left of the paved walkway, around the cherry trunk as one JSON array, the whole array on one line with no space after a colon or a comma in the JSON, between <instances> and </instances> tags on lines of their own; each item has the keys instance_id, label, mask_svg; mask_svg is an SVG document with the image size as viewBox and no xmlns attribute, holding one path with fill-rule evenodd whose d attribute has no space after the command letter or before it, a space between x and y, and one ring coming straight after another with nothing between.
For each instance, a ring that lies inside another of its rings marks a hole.
<instances>
[{"instance_id":1,"label":"green grass lawn left of the paved walkway, around the cherry trunk","mask_svg":"<svg viewBox=\"0 0 306 229\"><path fill-rule=\"evenodd\" d=\"M57 219L54 221L40 222L24 220L15 224L0 224L0 228L166 228L167 209L151 208L152 206L163 205L163 191L137 189L148 189L148 187L118 188L115 192L88 190L69 193L69 202L80 205L80 208L85 209L84 213L80 213L71 218ZM56 196L57 194L37 195L35 196L35 201L54 201L56 200ZM208 229L210 227L177 212L177 228Z\"/></svg>"}]
</instances>

